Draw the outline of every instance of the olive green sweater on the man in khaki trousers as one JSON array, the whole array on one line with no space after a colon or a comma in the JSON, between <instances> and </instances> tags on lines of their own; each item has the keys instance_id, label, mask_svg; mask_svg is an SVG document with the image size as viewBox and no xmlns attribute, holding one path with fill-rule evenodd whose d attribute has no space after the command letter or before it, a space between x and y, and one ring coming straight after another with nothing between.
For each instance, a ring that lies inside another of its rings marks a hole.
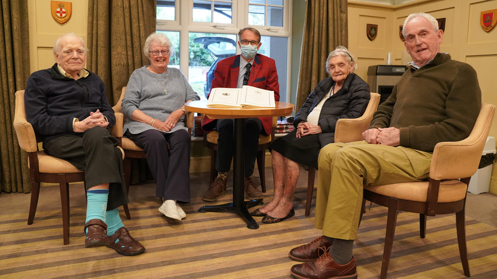
<instances>
[{"instance_id":1,"label":"olive green sweater on the man in khaki trousers","mask_svg":"<svg viewBox=\"0 0 497 279\"><path fill-rule=\"evenodd\" d=\"M401 146L432 152L438 142L467 138L481 104L476 71L438 53L417 70L409 67L369 128L398 128Z\"/></svg>"}]
</instances>

